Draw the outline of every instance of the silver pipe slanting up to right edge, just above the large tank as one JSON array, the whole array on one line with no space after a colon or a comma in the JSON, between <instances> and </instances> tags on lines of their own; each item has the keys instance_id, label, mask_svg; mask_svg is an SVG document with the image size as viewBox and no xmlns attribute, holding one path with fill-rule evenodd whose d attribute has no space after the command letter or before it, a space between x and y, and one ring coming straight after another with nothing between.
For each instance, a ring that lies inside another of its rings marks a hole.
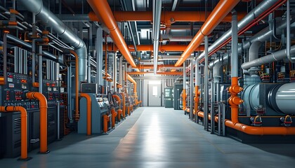
<instances>
[{"instance_id":1,"label":"silver pipe slanting up to right edge, just above the large tank","mask_svg":"<svg viewBox=\"0 0 295 168\"><path fill-rule=\"evenodd\" d=\"M295 45L291 46L290 54L291 55L295 54ZM268 63L275 62L284 58L287 58L287 51L280 50L280 51L274 52L273 54L265 55L264 57L254 59L251 62L245 62L244 64L242 64L242 69L250 69L253 66L268 64Z\"/></svg>"}]
</instances>

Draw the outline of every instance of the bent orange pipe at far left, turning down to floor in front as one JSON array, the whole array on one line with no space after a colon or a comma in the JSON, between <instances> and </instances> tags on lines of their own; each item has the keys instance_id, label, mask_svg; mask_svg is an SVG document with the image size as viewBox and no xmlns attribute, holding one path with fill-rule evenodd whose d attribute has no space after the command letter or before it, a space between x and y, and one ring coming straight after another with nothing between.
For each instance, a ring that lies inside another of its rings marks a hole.
<instances>
[{"instance_id":1,"label":"bent orange pipe at far left, turning down to floor in front","mask_svg":"<svg viewBox=\"0 0 295 168\"><path fill-rule=\"evenodd\" d=\"M27 111L22 106L0 106L1 112L20 111L20 160L27 157Z\"/></svg>"}]
</instances>

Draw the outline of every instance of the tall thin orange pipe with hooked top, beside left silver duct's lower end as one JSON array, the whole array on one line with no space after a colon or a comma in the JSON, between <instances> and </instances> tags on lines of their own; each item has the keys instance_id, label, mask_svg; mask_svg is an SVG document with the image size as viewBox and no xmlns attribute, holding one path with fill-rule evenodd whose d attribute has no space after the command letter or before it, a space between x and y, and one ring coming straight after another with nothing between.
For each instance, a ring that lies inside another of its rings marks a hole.
<instances>
[{"instance_id":1,"label":"tall thin orange pipe with hooked top, beside left silver duct's lower end","mask_svg":"<svg viewBox=\"0 0 295 168\"><path fill-rule=\"evenodd\" d=\"M76 64L76 69L75 69L75 76L76 76L76 79L75 79L75 83L76 83L76 88L75 88L75 91L76 91L76 95L75 95L75 100L76 100L76 111L74 113L74 120L75 121L78 121L79 118L80 118L80 114L79 114L79 56L77 55L76 52L74 52L73 50L70 50L70 53L72 55L74 55L74 58L75 58L75 64Z\"/></svg>"}]
</instances>

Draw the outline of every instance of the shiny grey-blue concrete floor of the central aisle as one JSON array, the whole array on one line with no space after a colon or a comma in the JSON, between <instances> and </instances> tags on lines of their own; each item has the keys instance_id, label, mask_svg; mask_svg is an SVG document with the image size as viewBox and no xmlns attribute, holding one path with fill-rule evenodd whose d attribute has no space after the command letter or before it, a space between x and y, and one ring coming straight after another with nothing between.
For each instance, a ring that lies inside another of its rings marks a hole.
<instances>
[{"instance_id":1,"label":"shiny grey-blue concrete floor of the central aisle","mask_svg":"<svg viewBox=\"0 0 295 168\"><path fill-rule=\"evenodd\" d=\"M294 140L295 141L295 140ZM295 144L241 144L205 132L183 111L139 108L109 135L67 135L32 160L0 160L0 167L294 167Z\"/></svg>"}]
</instances>

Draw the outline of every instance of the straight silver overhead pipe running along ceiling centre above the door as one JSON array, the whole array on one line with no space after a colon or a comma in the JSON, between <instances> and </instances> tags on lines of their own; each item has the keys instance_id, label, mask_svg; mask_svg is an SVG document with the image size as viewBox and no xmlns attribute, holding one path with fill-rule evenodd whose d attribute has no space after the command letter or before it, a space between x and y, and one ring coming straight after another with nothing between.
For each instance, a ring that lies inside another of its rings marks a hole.
<instances>
[{"instance_id":1,"label":"straight silver overhead pipe running along ceiling centre above the door","mask_svg":"<svg viewBox=\"0 0 295 168\"><path fill-rule=\"evenodd\" d=\"M159 54L159 31L160 31L160 25L161 25L161 10L162 10L162 1L152 1L153 6L155 8L152 8L152 14L153 14L153 27L152 31L154 32L154 74L157 73L157 65L158 65L158 54Z\"/></svg>"}]
</instances>

